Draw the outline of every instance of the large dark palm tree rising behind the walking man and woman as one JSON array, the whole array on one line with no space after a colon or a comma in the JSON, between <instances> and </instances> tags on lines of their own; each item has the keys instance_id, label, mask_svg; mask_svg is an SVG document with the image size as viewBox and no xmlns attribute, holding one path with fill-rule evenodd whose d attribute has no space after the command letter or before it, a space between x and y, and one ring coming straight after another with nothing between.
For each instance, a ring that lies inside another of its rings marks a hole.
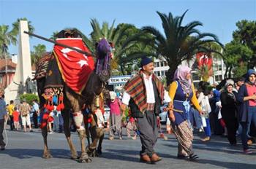
<instances>
[{"instance_id":1,"label":"large dark palm tree rising behind the walking man and woman","mask_svg":"<svg viewBox=\"0 0 256 169\"><path fill-rule=\"evenodd\" d=\"M162 20L162 28L165 34L162 34L152 26L142 28L143 31L154 36L153 47L157 52L156 54L167 60L167 64L170 67L167 71L167 84L170 84L176 68L183 60L191 59L197 52L217 52L205 47L204 44L207 42L220 44L214 34L200 33L196 29L197 26L203 25L199 21L192 21L184 26L181 25L186 13L187 11L181 16L173 17L171 12L169 12L169 15L157 12Z\"/></svg>"}]
</instances>

